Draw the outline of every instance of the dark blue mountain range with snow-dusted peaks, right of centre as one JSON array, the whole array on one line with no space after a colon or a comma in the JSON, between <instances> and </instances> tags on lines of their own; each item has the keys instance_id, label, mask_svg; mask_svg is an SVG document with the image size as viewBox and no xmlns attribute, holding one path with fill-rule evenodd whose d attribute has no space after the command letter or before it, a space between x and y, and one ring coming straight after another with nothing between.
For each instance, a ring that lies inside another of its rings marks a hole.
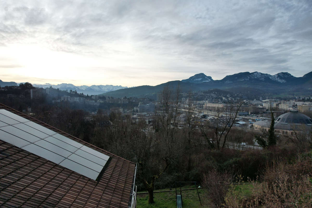
<instances>
[{"instance_id":1,"label":"dark blue mountain range with snow-dusted peaks, right of centre","mask_svg":"<svg viewBox=\"0 0 312 208\"><path fill-rule=\"evenodd\" d=\"M226 89L228 91L253 91L258 93L310 93L312 89L312 71L302 77L295 77L288 72L275 75L260 72L241 72L227 75L222 80L213 80L203 73L191 76L186 80L169 81L156 86L139 86L128 89L119 89L104 93L113 97L145 97L155 96L165 86L175 88L179 86L181 92L198 91L204 89Z\"/></svg>"}]
</instances>

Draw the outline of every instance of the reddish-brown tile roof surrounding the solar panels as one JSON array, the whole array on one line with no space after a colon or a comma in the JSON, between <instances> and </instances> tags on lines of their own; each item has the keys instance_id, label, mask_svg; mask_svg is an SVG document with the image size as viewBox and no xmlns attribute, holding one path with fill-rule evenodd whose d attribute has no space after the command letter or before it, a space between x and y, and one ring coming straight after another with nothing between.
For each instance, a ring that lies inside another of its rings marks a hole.
<instances>
[{"instance_id":1,"label":"reddish-brown tile roof surrounding the solar panels","mask_svg":"<svg viewBox=\"0 0 312 208\"><path fill-rule=\"evenodd\" d=\"M0 104L111 157L99 181L27 152L0 138L0 207L128 207L136 164Z\"/></svg>"}]
</instances>

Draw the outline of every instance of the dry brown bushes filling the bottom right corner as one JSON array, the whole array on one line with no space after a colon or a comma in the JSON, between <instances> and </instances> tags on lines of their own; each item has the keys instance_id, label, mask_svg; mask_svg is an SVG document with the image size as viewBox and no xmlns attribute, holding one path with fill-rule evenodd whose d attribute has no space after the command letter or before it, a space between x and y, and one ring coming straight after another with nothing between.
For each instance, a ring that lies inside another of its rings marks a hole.
<instances>
[{"instance_id":1,"label":"dry brown bushes filling the bottom right corner","mask_svg":"<svg viewBox=\"0 0 312 208\"><path fill-rule=\"evenodd\" d=\"M251 198L228 194L226 207L312 207L311 169L309 155L300 156L293 163L273 162L266 167L263 182L254 186Z\"/></svg>"}]
</instances>

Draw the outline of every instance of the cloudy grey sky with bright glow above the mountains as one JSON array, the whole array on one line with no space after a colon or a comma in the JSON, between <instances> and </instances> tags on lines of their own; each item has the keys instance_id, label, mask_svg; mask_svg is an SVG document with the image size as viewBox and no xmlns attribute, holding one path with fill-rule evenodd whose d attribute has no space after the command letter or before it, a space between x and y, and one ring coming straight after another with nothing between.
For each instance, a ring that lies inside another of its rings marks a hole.
<instances>
[{"instance_id":1,"label":"cloudy grey sky with bright glow above the mountains","mask_svg":"<svg viewBox=\"0 0 312 208\"><path fill-rule=\"evenodd\" d=\"M312 71L311 0L0 5L2 81L130 87Z\"/></svg>"}]
</instances>

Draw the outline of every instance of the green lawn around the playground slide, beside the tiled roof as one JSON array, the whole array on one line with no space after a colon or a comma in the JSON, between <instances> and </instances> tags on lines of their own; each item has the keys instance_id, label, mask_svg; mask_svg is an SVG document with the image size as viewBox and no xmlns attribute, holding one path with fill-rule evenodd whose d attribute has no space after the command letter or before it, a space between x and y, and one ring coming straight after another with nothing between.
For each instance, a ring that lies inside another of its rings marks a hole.
<instances>
[{"instance_id":1,"label":"green lawn around the playground slide, beside the tiled roof","mask_svg":"<svg viewBox=\"0 0 312 208\"><path fill-rule=\"evenodd\" d=\"M159 191L159 190L155 190ZM204 191L198 189L199 196L202 200L202 204L205 203ZM197 208L207 207L200 206L196 189L182 191L183 204L182 207ZM176 208L175 191L154 193L154 204L148 204L148 194L137 195L137 208Z\"/></svg>"}]
</instances>

